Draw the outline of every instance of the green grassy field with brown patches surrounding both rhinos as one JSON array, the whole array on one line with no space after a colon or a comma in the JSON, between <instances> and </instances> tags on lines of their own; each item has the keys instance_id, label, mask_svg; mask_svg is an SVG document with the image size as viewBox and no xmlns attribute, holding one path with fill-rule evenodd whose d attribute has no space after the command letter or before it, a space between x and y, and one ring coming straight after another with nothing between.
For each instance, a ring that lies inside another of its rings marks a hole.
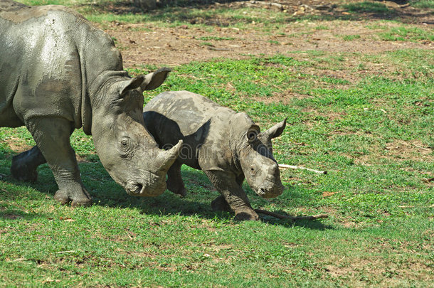
<instances>
[{"instance_id":1,"label":"green grassy field with brown patches surrounding both rhinos","mask_svg":"<svg viewBox=\"0 0 434 288\"><path fill-rule=\"evenodd\" d=\"M102 27L118 17L87 1L25 3L68 4ZM388 13L380 2L369 3L342 7L355 18L366 9ZM411 5L434 11L433 1ZM161 27L188 23L188 16L174 9L120 17ZM241 19L246 9L222 8L221 14ZM283 12L255 13L265 19L265 31L278 24L270 33L297 24ZM162 21L170 15L169 23ZM266 20L270 15L274 22ZM336 28L335 20L309 19L317 30ZM434 39L432 26L396 19L366 23L373 27L370 36L384 43ZM378 27L381 32L374 31ZM342 45L366 37L341 37ZM291 223L264 216L235 222L232 214L211 210L218 192L201 171L186 167L186 198L169 191L156 198L128 196L81 130L71 139L95 204L61 206L53 200L57 186L46 164L36 183L10 176L12 156L34 142L24 128L0 128L0 286L433 287L434 49L424 47L379 53L298 50L191 62L174 67L162 87L145 95L147 102L165 90L197 92L248 112L263 129L288 117L285 132L273 142L277 161L328 174L282 170L287 189L269 201L247 184L244 188L254 208L327 213L324 220ZM127 70L136 75L153 68L149 63Z\"/></svg>"}]
</instances>

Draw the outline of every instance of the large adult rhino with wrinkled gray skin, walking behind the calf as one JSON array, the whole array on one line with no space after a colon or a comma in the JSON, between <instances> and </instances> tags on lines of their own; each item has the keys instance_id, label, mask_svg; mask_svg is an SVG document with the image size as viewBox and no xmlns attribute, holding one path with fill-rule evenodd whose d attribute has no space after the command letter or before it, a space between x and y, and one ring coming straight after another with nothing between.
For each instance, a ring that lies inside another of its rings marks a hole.
<instances>
[{"instance_id":1,"label":"large adult rhino with wrinkled gray skin, walking behind the calf","mask_svg":"<svg viewBox=\"0 0 434 288\"><path fill-rule=\"evenodd\" d=\"M0 0L0 126L26 125L37 146L12 160L12 175L36 181L48 162L54 198L91 203L70 134L83 127L110 176L127 193L157 196L181 143L158 148L144 128L142 91L164 82L169 69L129 78L110 36L63 6Z\"/></svg>"}]
</instances>

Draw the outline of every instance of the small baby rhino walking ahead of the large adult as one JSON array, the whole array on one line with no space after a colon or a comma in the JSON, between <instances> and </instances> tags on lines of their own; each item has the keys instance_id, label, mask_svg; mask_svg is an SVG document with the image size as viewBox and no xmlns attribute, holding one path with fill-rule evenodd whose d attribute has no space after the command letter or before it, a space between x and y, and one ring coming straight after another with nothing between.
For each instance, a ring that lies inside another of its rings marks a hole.
<instances>
[{"instance_id":1,"label":"small baby rhino walking ahead of the large adult","mask_svg":"<svg viewBox=\"0 0 434 288\"><path fill-rule=\"evenodd\" d=\"M154 97L143 115L145 126L160 147L184 142L167 174L170 191L185 196L181 165L186 164L204 171L221 193L211 203L214 210L231 208L235 219L258 220L243 191L244 178L263 198L274 198L284 190L271 139L282 134L286 119L261 133L247 114L187 91Z\"/></svg>"}]
</instances>

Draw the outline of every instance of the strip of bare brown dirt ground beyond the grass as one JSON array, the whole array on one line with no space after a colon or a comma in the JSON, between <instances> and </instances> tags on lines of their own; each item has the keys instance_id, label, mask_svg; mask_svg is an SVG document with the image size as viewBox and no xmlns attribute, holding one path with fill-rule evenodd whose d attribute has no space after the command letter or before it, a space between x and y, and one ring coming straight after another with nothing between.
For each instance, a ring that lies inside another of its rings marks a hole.
<instances>
[{"instance_id":1,"label":"strip of bare brown dirt ground beyond the grass","mask_svg":"<svg viewBox=\"0 0 434 288\"><path fill-rule=\"evenodd\" d=\"M253 1L254 2L254 1ZM264 2L264 1L261 1ZM278 1L277 1L278 2ZM276 2L275 2L276 3ZM245 58L248 55L274 55L304 50L318 50L327 53L381 53L403 48L434 48L432 41L382 41L378 33L387 28L411 24L412 27L434 28L433 16L415 9L408 4L383 1L393 14L359 14L356 20L342 20L349 13L339 8L342 1L305 0L297 4L278 2L281 7L269 7L285 11L287 23L276 25L276 31L266 31L263 23L246 23L242 28L227 27L227 19L214 14L213 18L191 18L190 23L205 23L213 26L156 26L154 23L112 22L105 31L115 37L122 51L125 68L142 64L176 66L191 61L206 61L212 58ZM404 2L403 2L404 3ZM203 9L228 6L233 9L245 6L263 7L251 1L226 4L211 4ZM189 9L189 7L179 9ZM152 12L151 12L152 13ZM290 16L323 16L329 21L291 21ZM376 20L393 19L396 22ZM370 24L374 21L376 26ZM320 26L320 27L319 27ZM351 41L344 36L357 36ZM206 41L204 41L204 39ZM295 55L297 58L304 55Z\"/></svg>"}]
</instances>

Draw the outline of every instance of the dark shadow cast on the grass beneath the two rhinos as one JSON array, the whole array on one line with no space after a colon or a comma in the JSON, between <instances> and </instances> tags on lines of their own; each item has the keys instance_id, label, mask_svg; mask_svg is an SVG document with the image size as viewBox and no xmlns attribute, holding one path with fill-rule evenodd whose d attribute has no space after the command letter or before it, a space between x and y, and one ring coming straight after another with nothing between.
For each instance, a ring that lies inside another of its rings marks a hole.
<instances>
[{"instance_id":1,"label":"dark shadow cast on the grass beneath the two rhinos","mask_svg":"<svg viewBox=\"0 0 434 288\"><path fill-rule=\"evenodd\" d=\"M5 170L5 162L9 162L10 164L10 159L14 154L13 151L1 151L0 164L3 166L2 171ZM208 178L206 178L206 175L203 174L202 171L194 169L186 171L183 169L182 175L184 182L186 183L186 188L189 191L185 198L181 198L169 191L165 191L162 195L157 197L139 198L127 195L124 189L110 178L107 171L105 171L99 161L80 163L79 166L83 183L86 188L88 188L88 191L93 198L94 205L121 209L137 208L140 210L140 213L146 215L199 215L201 218L208 219L233 219L233 213L214 212L211 210L211 201L220 194L213 189ZM9 169L9 167L7 167L7 169ZM23 183L16 181L10 174L2 176L0 181L17 186L16 189L8 188L8 190L11 191L0 193L0 196L3 194L1 197L2 201L14 201L21 198L28 198L29 200L37 198L38 200L41 200L41 195L38 195L38 193L34 196L29 195L31 194L28 193L29 187L38 192L48 194L51 197L54 196L54 193L57 190L53 174L47 164L38 167L38 181L36 181L36 183ZM251 191L248 194L252 194ZM292 191L291 195L291 197L296 196L295 191ZM249 195L249 197L253 198L258 196ZM279 211L278 213L287 215L283 211ZM34 217L34 215L32 216L28 213L23 214L23 211L18 210L16 212L12 210L0 210L0 217L13 220L16 218ZM323 225L318 220L299 220L292 223L289 219L282 220L267 215L260 215L260 218L265 223L282 225L285 227L302 226L315 230L332 229L332 227Z\"/></svg>"}]
</instances>

